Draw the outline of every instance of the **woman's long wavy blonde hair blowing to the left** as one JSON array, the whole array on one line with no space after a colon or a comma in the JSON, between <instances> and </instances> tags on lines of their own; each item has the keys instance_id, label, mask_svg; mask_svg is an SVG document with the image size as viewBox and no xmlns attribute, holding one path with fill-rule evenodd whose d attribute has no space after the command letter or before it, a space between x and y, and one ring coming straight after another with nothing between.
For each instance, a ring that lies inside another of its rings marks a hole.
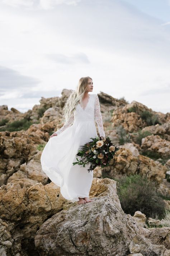
<instances>
[{"instance_id":1,"label":"woman's long wavy blonde hair blowing to the left","mask_svg":"<svg viewBox=\"0 0 170 256\"><path fill-rule=\"evenodd\" d=\"M76 105L78 103L82 103L82 98L84 96L84 93L88 89L88 80L92 78L90 76L85 76L80 78L79 83L75 89L75 91L72 90L72 93L70 94L69 98L66 100L66 104L63 107L63 118L65 119L64 124L67 123L70 116L73 115L73 112L76 108Z\"/></svg>"}]
</instances>

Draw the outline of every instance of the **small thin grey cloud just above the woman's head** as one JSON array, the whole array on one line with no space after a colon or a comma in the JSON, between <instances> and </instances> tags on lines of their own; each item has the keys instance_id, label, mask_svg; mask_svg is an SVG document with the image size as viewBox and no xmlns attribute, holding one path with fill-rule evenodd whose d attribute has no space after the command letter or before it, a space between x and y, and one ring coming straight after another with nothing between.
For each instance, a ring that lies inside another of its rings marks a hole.
<instances>
[{"instance_id":1,"label":"small thin grey cloud just above the woman's head","mask_svg":"<svg viewBox=\"0 0 170 256\"><path fill-rule=\"evenodd\" d=\"M89 64L90 61L85 53L76 53L73 54L71 57L66 56L64 54L46 54L46 56L53 61L60 63L60 64Z\"/></svg>"}]
</instances>

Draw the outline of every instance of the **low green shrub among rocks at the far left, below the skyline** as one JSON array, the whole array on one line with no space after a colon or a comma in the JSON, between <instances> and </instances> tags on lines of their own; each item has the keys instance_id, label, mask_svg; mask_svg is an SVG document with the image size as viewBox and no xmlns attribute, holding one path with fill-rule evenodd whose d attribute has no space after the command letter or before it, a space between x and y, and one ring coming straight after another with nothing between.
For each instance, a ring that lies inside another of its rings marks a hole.
<instances>
[{"instance_id":1,"label":"low green shrub among rocks at the far left, below the skyline","mask_svg":"<svg viewBox=\"0 0 170 256\"><path fill-rule=\"evenodd\" d=\"M31 121L28 121L27 119L23 118L21 120L17 120L7 124L6 127L0 128L0 131L14 132L14 131L20 131L22 129L27 130L32 124L33 123Z\"/></svg>"}]
</instances>

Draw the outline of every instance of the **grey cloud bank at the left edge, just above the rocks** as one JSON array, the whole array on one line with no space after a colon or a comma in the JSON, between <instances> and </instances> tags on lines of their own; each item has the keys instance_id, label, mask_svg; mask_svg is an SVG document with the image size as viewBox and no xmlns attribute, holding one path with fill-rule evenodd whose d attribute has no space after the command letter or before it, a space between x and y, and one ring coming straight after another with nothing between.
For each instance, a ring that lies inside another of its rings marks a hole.
<instances>
[{"instance_id":1,"label":"grey cloud bank at the left edge, just above the rocks","mask_svg":"<svg viewBox=\"0 0 170 256\"><path fill-rule=\"evenodd\" d=\"M8 67L0 66L0 91L22 89L23 87L33 87L41 83L37 78L21 75L18 71Z\"/></svg>"}]
</instances>

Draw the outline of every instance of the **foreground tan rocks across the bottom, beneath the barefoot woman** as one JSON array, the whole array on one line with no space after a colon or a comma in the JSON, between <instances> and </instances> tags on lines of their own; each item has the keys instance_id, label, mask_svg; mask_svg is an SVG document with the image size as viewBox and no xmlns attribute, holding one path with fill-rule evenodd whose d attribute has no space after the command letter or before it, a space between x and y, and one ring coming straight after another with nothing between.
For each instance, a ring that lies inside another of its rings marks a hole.
<instances>
[{"instance_id":1,"label":"foreground tan rocks across the bottom, beneath the barefoot woman","mask_svg":"<svg viewBox=\"0 0 170 256\"><path fill-rule=\"evenodd\" d=\"M38 182L28 191L19 184L1 186L0 253L163 256L169 252L166 242L146 238L152 237L151 231L123 212L114 180L94 178L90 198L84 205L70 203L53 182L45 186Z\"/></svg>"}]
</instances>

